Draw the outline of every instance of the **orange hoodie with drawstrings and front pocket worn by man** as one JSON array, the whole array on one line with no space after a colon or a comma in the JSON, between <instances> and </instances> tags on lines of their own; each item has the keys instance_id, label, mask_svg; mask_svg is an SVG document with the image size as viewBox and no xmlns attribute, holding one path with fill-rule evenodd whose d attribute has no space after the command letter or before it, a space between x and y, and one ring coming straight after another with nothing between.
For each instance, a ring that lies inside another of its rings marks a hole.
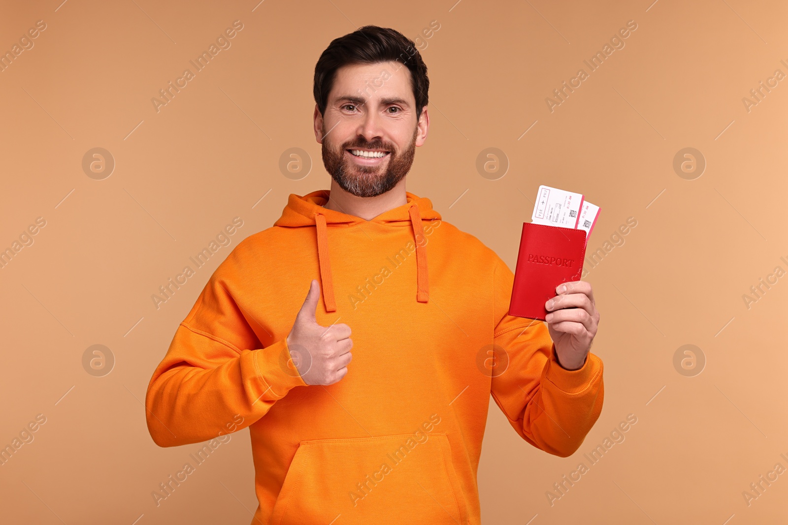
<instances>
[{"instance_id":1,"label":"orange hoodie with drawstrings and front pocket worn by man","mask_svg":"<svg viewBox=\"0 0 788 525\"><path fill-rule=\"evenodd\" d=\"M328 195L291 194L211 275L151 378L148 430L180 446L249 427L252 523L481 523L489 396L566 457L599 417L602 361L561 368L547 325L508 315L504 261L428 198L363 220ZM329 386L303 382L286 342L311 279L318 324L352 330Z\"/></svg>"}]
</instances>

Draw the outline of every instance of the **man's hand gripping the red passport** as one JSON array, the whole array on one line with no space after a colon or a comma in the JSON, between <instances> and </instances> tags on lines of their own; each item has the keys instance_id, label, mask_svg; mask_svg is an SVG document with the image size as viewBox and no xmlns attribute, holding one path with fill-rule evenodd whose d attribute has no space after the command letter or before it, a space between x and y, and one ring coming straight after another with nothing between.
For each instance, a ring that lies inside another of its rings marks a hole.
<instances>
[{"instance_id":1,"label":"man's hand gripping the red passport","mask_svg":"<svg viewBox=\"0 0 788 525\"><path fill-rule=\"evenodd\" d=\"M569 281L556 287L558 296L545 303L545 316L556 357L567 370L577 370L585 363L597 335L599 312L593 301L591 283Z\"/></svg>"}]
</instances>

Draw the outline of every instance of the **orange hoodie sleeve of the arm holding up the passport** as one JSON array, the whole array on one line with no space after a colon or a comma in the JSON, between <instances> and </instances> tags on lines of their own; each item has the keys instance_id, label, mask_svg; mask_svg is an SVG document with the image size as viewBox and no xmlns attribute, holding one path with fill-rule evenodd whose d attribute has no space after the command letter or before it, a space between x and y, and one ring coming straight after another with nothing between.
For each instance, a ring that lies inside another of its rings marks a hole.
<instances>
[{"instance_id":1,"label":"orange hoodie sleeve of the arm holding up the passport","mask_svg":"<svg viewBox=\"0 0 788 525\"><path fill-rule=\"evenodd\" d=\"M571 456L602 410L602 360L589 353L582 368L562 368L547 324L509 315L514 274L497 256L492 282L496 323L492 398L531 445L556 456Z\"/></svg>"}]
</instances>

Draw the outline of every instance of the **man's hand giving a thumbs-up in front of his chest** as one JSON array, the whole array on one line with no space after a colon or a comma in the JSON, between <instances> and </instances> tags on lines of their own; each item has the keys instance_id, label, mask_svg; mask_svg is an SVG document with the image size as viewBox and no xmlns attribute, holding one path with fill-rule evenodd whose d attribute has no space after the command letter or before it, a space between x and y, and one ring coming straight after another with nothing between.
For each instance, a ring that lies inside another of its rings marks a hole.
<instances>
[{"instance_id":1,"label":"man's hand giving a thumbs-up in front of his chest","mask_svg":"<svg viewBox=\"0 0 788 525\"><path fill-rule=\"evenodd\" d=\"M314 314L318 309L320 284L312 279L307 298L296 315L287 342L293 364L307 385L331 385L348 373L352 356L350 327L332 324L322 327Z\"/></svg>"}]
</instances>

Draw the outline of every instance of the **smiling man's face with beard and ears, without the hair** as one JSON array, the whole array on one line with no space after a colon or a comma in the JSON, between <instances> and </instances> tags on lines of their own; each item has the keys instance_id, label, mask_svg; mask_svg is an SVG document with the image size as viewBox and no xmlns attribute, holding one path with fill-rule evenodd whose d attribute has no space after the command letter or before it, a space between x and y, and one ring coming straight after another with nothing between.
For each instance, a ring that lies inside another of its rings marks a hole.
<instances>
[{"instance_id":1,"label":"smiling man's face with beard and ears, without the hair","mask_svg":"<svg viewBox=\"0 0 788 525\"><path fill-rule=\"evenodd\" d=\"M340 187L359 197L391 190L407 175L429 127L416 118L411 72L399 62L346 65L336 71L325 114L314 131L323 165Z\"/></svg>"}]
</instances>

